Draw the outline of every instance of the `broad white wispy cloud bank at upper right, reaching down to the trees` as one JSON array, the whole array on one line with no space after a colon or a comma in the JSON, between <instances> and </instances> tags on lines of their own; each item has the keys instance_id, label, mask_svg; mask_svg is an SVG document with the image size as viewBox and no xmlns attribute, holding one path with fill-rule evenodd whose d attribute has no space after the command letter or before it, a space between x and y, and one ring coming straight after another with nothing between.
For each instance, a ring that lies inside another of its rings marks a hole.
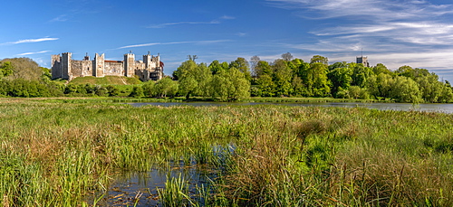
<instances>
[{"instance_id":1,"label":"broad white wispy cloud bank at upper right, reaching down to the trees","mask_svg":"<svg viewBox=\"0 0 453 207\"><path fill-rule=\"evenodd\" d=\"M371 64L452 71L453 3L426 0L265 0L319 23L313 36L281 44L299 53L321 53L334 61L355 61L361 50ZM325 24L327 23L327 24ZM453 77L453 75L450 75Z\"/></svg>"}]
</instances>

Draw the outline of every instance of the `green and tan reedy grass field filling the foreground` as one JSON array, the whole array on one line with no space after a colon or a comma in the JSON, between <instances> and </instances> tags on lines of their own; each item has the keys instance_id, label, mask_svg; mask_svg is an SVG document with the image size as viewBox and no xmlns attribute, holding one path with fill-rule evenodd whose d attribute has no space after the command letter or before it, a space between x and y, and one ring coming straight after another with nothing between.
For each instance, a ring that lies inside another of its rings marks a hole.
<instances>
[{"instance_id":1,"label":"green and tan reedy grass field filling the foreground","mask_svg":"<svg viewBox=\"0 0 453 207\"><path fill-rule=\"evenodd\" d=\"M92 205L115 171L188 157L222 176L200 203L169 178L162 205L453 205L451 114L68 100L0 99L0 205Z\"/></svg>"}]
</instances>

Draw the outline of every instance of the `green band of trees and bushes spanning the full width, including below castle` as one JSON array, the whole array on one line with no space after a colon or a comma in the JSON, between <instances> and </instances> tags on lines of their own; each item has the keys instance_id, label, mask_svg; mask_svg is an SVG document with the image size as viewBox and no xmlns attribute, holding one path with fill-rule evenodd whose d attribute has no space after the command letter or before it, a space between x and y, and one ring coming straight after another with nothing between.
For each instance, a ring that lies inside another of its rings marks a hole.
<instances>
[{"instance_id":1,"label":"green band of trees and bushes spanning the full width, including below castle","mask_svg":"<svg viewBox=\"0 0 453 207\"><path fill-rule=\"evenodd\" d=\"M194 56L196 57L196 56ZM130 96L204 97L231 101L247 97L332 97L338 99L388 99L396 102L453 102L451 84L439 81L426 69L401 66L390 71L379 63L365 67L355 62L328 63L315 55L310 61L289 52L275 61L254 56L247 61L197 63L184 61L171 77L140 85L67 84L51 80L50 70L27 58L0 61L0 96Z\"/></svg>"}]
</instances>

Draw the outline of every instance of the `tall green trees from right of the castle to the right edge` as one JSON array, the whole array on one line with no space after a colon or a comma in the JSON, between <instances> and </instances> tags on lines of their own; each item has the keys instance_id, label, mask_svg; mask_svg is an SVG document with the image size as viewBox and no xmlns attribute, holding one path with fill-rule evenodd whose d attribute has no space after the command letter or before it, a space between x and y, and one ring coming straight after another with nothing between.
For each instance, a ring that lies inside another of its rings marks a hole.
<instances>
[{"instance_id":1,"label":"tall green trees from right of the castle to the right edge","mask_svg":"<svg viewBox=\"0 0 453 207\"><path fill-rule=\"evenodd\" d=\"M243 97L332 97L339 99L390 99L396 102L453 102L451 84L426 69L401 66L390 71L379 63L365 67L355 62L328 64L314 55L310 61L284 53L281 59L196 63L183 62L173 72L179 94L232 100Z\"/></svg>"}]
</instances>

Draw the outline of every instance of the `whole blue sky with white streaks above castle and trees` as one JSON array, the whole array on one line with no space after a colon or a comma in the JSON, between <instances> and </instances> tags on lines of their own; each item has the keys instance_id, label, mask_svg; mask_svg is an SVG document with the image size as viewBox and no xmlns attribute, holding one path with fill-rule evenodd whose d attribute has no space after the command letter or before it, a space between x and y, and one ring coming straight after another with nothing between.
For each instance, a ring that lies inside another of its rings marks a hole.
<instances>
[{"instance_id":1,"label":"whole blue sky with white streaks above castle and trees","mask_svg":"<svg viewBox=\"0 0 453 207\"><path fill-rule=\"evenodd\" d=\"M160 53L171 74L188 55L198 62L274 61L285 52L330 63L369 57L390 70L425 68L453 82L450 0L15 0L2 2L0 59L51 54Z\"/></svg>"}]
</instances>

